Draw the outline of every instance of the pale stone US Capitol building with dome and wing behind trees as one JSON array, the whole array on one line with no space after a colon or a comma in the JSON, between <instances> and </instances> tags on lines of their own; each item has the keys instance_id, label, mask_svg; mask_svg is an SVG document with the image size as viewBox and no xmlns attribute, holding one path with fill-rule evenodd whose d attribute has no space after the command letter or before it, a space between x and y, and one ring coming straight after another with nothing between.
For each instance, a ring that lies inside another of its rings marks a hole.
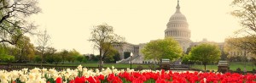
<instances>
[{"instance_id":1,"label":"pale stone US Capitol building with dome and wing behind trees","mask_svg":"<svg viewBox=\"0 0 256 83\"><path fill-rule=\"evenodd\" d=\"M187 49L191 46L195 46L200 44L201 42L192 42L190 40L190 30L189 24L185 15L183 15L180 11L179 1L177 1L176 12L172 14L171 18L169 19L166 30L165 30L165 37L172 37L177 42L179 42L180 47L183 49L183 53L187 52ZM207 42L204 39L202 42ZM223 48L224 43L218 43L221 48ZM132 64L143 64L143 63L152 63L151 60L144 60L143 53L141 50L146 45L146 43L141 43L139 45L134 45L128 42L122 44L113 44L113 47L119 52L120 59L116 63L119 64L128 64L130 60L132 60ZM133 57L124 58L124 53L130 52L133 53Z\"/></svg>"}]
</instances>

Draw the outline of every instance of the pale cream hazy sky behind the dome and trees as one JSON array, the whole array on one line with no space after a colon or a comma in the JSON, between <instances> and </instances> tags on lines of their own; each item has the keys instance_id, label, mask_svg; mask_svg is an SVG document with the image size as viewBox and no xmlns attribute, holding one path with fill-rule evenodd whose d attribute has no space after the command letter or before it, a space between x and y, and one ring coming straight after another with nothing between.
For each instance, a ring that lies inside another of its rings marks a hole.
<instances>
[{"instance_id":1,"label":"pale cream hazy sky behind the dome and trees","mask_svg":"<svg viewBox=\"0 0 256 83\"><path fill-rule=\"evenodd\" d=\"M166 24L177 0L38 0L42 13L34 17L38 30L46 28L52 47L75 48L80 53L96 53L88 42L94 25L107 23L126 42L139 44L164 38ZM240 29L230 15L232 0L180 0L181 12L189 23L191 40L224 42ZM35 38L35 37L34 37Z\"/></svg>"}]
</instances>

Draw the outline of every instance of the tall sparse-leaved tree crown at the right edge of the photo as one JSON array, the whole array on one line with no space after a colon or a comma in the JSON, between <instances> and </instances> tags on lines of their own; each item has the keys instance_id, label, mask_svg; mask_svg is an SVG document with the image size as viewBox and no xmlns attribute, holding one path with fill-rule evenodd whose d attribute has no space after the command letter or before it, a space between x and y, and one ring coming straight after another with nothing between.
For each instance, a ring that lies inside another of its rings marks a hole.
<instances>
[{"instance_id":1,"label":"tall sparse-leaved tree crown at the right edge of the photo","mask_svg":"<svg viewBox=\"0 0 256 83\"><path fill-rule=\"evenodd\" d=\"M256 0L234 0L231 5L236 8L231 12L233 16L240 19L241 30L237 35L230 38L232 46L247 50L256 55Z\"/></svg>"}]
</instances>

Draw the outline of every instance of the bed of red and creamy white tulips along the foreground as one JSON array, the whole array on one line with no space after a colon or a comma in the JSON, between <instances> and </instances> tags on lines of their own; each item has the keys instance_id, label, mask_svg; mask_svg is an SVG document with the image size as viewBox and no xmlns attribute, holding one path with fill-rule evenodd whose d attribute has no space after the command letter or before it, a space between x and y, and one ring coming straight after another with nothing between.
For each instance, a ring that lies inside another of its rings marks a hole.
<instances>
[{"instance_id":1,"label":"bed of red and creamy white tulips along the foreground","mask_svg":"<svg viewBox=\"0 0 256 83\"><path fill-rule=\"evenodd\" d=\"M103 69L100 72L78 69L21 69L0 70L1 83L256 83L256 75L220 74L200 72L172 72L172 70L117 70Z\"/></svg>"}]
</instances>

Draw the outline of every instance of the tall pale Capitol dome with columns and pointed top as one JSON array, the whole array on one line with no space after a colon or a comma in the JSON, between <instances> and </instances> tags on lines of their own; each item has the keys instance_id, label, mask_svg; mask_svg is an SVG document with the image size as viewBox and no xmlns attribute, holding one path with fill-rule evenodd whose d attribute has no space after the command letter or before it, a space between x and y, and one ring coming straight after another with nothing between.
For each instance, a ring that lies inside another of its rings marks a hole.
<instances>
[{"instance_id":1,"label":"tall pale Capitol dome with columns and pointed top","mask_svg":"<svg viewBox=\"0 0 256 83\"><path fill-rule=\"evenodd\" d=\"M185 53L191 42L190 30L185 15L180 12L178 0L176 12L172 14L166 26L165 37L172 37L175 39Z\"/></svg>"}]
</instances>

